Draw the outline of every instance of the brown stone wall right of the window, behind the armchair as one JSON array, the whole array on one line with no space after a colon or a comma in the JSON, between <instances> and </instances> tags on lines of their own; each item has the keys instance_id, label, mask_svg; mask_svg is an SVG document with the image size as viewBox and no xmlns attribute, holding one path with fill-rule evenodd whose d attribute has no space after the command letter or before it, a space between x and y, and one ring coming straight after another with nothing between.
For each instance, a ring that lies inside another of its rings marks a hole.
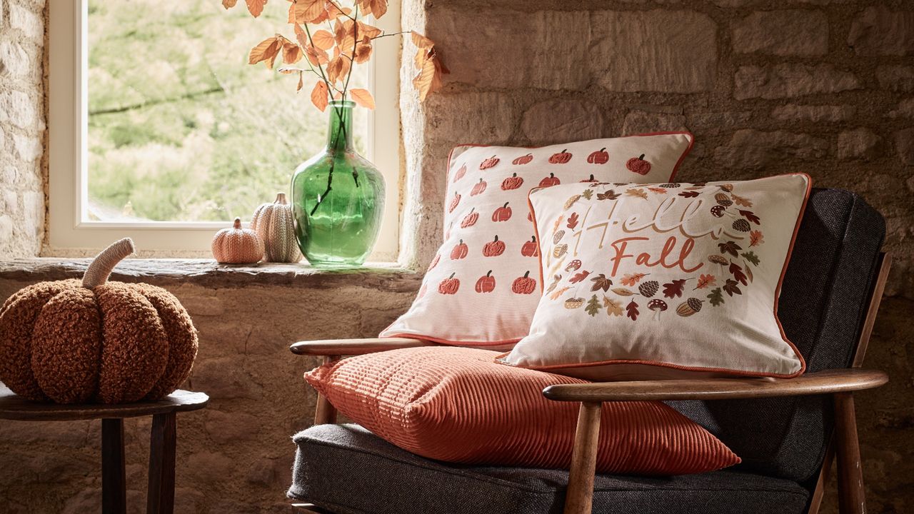
<instances>
[{"instance_id":1,"label":"brown stone wall right of the window, behind the armchair","mask_svg":"<svg viewBox=\"0 0 914 514\"><path fill-rule=\"evenodd\" d=\"M914 4L907 0L452 0L409 2L404 27L452 74L419 105L403 88L406 247L441 241L453 145L548 145L687 129L678 179L802 171L863 195L895 263L860 395L871 512L914 510ZM420 128L416 128L418 125ZM824 512L836 512L834 487Z\"/></svg>"}]
</instances>

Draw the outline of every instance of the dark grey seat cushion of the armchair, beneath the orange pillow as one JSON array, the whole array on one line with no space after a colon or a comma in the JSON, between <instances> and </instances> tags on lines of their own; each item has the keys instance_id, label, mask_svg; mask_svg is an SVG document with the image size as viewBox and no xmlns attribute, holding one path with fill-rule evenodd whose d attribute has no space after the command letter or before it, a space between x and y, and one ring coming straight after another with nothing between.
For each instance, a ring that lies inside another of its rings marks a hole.
<instances>
[{"instance_id":1,"label":"dark grey seat cushion of the armchair, beneath the orange pillow","mask_svg":"<svg viewBox=\"0 0 914 514\"><path fill-rule=\"evenodd\" d=\"M290 498L336 514L560 513L568 472L443 464L357 425L313 426L293 437ZM594 514L792 514L808 491L737 471L647 478L598 475Z\"/></svg>"}]
</instances>

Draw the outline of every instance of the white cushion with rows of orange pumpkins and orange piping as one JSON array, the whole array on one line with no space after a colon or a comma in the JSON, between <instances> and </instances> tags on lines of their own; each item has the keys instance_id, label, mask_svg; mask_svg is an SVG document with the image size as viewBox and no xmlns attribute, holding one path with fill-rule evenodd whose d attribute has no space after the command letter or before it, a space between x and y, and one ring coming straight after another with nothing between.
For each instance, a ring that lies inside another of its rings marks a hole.
<instances>
[{"instance_id":1,"label":"white cushion with rows of orange pumpkins and orange piping","mask_svg":"<svg viewBox=\"0 0 914 514\"><path fill-rule=\"evenodd\" d=\"M540 148L454 148L444 243L409 311L381 337L462 346L515 343L527 334L541 290L529 190L590 181L665 182L691 145L691 134L670 133Z\"/></svg>"}]
</instances>

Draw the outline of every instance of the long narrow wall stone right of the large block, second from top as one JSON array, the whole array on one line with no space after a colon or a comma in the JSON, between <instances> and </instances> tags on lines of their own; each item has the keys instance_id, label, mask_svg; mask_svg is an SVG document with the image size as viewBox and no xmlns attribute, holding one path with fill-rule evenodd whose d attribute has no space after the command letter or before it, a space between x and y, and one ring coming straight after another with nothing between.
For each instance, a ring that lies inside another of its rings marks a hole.
<instances>
[{"instance_id":1,"label":"long narrow wall stone right of the large block, second from top","mask_svg":"<svg viewBox=\"0 0 914 514\"><path fill-rule=\"evenodd\" d=\"M735 77L733 96L749 98L791 98L817 93L856 90L861 81L849 71L831 64L778 64L770 68L741 66Z\"/></svg>"}]
</instances>

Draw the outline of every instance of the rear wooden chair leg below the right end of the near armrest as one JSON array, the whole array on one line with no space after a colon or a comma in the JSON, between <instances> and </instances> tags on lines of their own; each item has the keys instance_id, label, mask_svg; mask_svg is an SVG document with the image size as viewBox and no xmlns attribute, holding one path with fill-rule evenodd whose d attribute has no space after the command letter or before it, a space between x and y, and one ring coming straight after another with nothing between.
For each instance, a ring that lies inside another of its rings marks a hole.
<instances>
[{"instance_id":1,"label":"rear wooden chair leg below the right end of the near armrest","mask_svg":"<svg viewBox=\"0 0 914 514\"><path fill-rule=\"evenodd\" d=\"M841 514L865 514L866 496L852 393L839 392L834 395L834 421L838 456L838 511Z\"/></svg>"}]
</instances>

